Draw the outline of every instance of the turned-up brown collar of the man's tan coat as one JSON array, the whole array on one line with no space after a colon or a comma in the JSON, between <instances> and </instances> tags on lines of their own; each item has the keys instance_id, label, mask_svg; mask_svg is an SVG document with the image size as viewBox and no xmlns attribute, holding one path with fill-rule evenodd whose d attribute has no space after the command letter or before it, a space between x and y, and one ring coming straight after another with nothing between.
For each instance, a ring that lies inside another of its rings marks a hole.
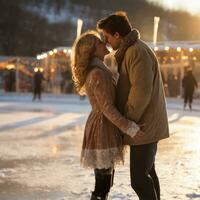
<instances>
[{"instance_id":1,"label":"turned-up brown collar of the man's tan coat","mask_svg":"<svg viewBox=\"0 0 200 200\"><path fill-rule=\"evenodd\" d=\"M119 46L119 49L115 53L115 59L118 64L118 68L121 67L124 54L126 50L133 45L138 39L140 39L140 33L137 29L133 29L130 33L128 33L123 39Z\"/></svg>"}]
</instances>

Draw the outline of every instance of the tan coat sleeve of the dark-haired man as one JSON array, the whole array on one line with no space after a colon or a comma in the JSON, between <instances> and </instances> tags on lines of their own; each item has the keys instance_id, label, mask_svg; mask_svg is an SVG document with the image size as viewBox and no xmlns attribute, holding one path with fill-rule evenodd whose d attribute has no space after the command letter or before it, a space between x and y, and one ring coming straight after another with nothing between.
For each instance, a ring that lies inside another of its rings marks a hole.
<instances>
[{"instance_id":1,"label":"tan coat sleeve of the dark-haired man","mask_svg":"<svg viewBox=\"0 0 200 200\"><path fill-rule=\"evenodd\" d=\"M134 49L128 53L125 62L131 84L125 114L128 119L137 123L151 99L154 79L153 60L146 49Z\"/></svg>"}]
</instances>

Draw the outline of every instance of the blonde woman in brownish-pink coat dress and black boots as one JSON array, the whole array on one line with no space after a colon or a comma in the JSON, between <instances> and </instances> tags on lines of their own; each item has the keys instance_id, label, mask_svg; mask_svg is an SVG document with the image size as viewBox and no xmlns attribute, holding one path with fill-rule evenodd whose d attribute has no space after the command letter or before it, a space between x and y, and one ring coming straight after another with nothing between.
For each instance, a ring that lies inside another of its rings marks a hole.
<instances>
[{"instance_id":1,"label":"blonde woman in brownish-pink coat dress and black boots","mask_svg":"<svg viewBox=\"0 0 200 200\"><path fill-rule=\"evenodd\" d=\"M118 128L134 139L143 135L138 125L124 118L115 108L116 82L103 64L108 53L95 31L84 33L74 45L73 80L78 93L86 93L92 106L81 152L81 164L95 172L91 200L107 199L114 167L123 163L124 148Z\"/></svg>"}]
</instances>

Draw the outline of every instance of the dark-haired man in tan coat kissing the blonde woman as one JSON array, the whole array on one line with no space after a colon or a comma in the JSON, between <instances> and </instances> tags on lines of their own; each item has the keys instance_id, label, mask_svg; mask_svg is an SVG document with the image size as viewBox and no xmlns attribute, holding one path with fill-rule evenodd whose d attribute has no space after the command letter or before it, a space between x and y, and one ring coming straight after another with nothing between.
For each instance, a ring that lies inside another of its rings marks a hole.
<instances>
[{"instance_id":1,"label":"dark-haired man in tan coat kissing the blonde woman","mask_svg":"<svg viewBox=\"0 0 200 200\"><path fill-rule=\"evenodd\" d=\"M97 28L113 50L118 63L117 105L127 118L143 124L145 135L131 139L131 186L140 200L160 200L155 156L159 140L169 137L164 90L158 60L153 51L132 30L126 13L101 19Z\"/></svg>"}]
</instances>

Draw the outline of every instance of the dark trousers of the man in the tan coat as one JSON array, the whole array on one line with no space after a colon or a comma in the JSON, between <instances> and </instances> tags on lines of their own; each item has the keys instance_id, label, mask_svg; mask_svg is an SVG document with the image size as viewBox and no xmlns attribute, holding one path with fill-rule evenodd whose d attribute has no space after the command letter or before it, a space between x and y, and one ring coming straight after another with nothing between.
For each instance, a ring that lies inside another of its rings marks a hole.
<instances>
[{"instance_id":1,"label":"dark trousers of the man in the tan coat","mask_svg":"<svg viewBox=\"0 0 200 200\"><path fill-rule=\"evenodd\" d=\"M160 185L155 171L157 142L130 147L131 186L140 200L160 200Z\"/></svg>"}]
</instances>

